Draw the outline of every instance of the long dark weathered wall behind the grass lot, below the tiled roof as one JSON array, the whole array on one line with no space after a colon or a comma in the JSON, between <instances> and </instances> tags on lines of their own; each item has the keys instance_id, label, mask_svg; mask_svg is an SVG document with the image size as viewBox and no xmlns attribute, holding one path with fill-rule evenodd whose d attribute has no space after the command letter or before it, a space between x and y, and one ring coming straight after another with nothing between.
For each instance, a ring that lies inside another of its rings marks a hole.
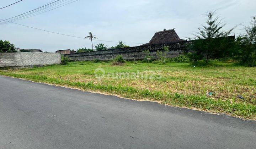
<instances>
[{"instance_id":1,"label":"long dark weathered wall behind the grass lot, below the tiled roof","mask_svg":"<svg viewBox=\"0 0 256 149\"><path fill-rule=\"evenodd\" d=\"M143 54L144 50L149 50L150 55L156 57L156 51L162 50L164 46L169 46L170 52L167 53L167 57L176 57L182 54L186 50L186 46L189 44L189 41L183 42L173 42L173 43L163 43L163 44L154 44L154 45L142 45L142 46L133 46L128 48L120 49L110 49L103 51L93 51L93 52L84 52L84 53L75 53L75 54L66 54L70 60L76 61L87 61L87 60L111 60L117 55L122 55L125 60L142 60L145 57Z\"/></svg>"}]
</instances>

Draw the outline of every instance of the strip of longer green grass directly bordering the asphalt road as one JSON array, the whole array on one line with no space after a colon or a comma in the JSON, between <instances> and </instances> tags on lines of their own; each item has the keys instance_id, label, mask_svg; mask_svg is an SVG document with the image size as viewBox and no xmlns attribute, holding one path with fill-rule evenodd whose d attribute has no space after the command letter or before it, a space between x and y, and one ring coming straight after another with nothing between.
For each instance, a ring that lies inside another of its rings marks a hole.
<instances>
[{"instance_id":1,"label":"strip of longer green grass directly bordering the asphalt road","mask_svg":"<svg viewBox=\"0 0 256 149\"><path fill-rule=\"evenodd\" d=\"M101 93L120 95L124 98L145 99L157 101L162 104L196 108L209 112L226 113L232 116L243 117L247 119L256 119L256 106L246 102L236 102L233 100L216 100L204 95L186 95L181 93L170 93L159 90L137 89L131 86L123 85L104 85L93 82L74 82L46 75L18 74L7 71L0 71L0 75L28 79L35 82L56 84L66 87L79 88L82 90L99 91Z\"/></svg>"}]
</instances>

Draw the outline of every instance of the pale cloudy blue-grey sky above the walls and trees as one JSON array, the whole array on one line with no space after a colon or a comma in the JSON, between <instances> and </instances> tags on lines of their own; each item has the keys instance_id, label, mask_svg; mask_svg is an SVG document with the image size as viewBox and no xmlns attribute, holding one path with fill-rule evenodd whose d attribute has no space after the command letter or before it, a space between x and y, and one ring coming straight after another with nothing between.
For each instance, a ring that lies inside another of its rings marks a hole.
<instances>
[{"instance_id":1,"label":"pale cloudy blue-grey sky above the walls and trees","mask_svg":"<svg viewBox=\"0 0 256 149\"><path fill-rule=\"evenodd\" d=\"M0 0L0 8L18 0ZM33 10L53 0L23 0L0 10L0 19L10 18ZM129 46L148 43L156 31L175 28L181 39L193 37L204 14L216 10L226 23L224 29L238 24L249 25L256 16L256 0L78 0L15 23L47 31L86 37L92 32L98 40L114 46L119 40ZM243 34L239 25L232 35ZM89 39L68 37L39 31L14 23L0 24L0 39L9 40L16 47L55 52L60 49L91 48ZM129 43L129 44L128 44ZM140 43L140 44L138 44Z\"/></svg>"}]
</instances>

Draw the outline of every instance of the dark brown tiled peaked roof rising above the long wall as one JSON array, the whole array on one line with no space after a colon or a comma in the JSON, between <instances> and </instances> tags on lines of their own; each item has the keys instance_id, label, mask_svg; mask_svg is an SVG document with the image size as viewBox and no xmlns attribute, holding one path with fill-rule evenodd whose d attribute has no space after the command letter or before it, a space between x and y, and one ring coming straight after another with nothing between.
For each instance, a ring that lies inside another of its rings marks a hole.
<instances>
[{"instance_id":1,"label":"dark brown tiled peaked roof rising above the long wall","mask_svg":"<svg viewBox=\"0 0 256 149\"><path fill-rule=\"evenodd\" d=\"M151 45L151 44L162 44L162 43L172 43L172 42L182 42L186 41L184 39L180 39L178 34L173 29L168 29L160 32L156 32L154 36L151 38L149 43L143 45Z\"/></svg>"}]
</instances>

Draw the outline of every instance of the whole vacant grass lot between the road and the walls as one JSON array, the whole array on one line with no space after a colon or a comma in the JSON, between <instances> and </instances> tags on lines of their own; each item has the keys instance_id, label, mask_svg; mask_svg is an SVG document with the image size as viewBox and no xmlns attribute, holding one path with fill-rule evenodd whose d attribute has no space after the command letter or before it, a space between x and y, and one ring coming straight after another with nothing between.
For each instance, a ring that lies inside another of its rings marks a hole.
<instances>
[{"instance_id":1,"label":"whole vacant grass lot between the road and the walls","mask_svg":"<svg viewBox=\"0 0 256 149\"><path fill-rule=\"evenodd\" d=\"M98 76L105 71L100 80L94 74L96 68L101 68ZM127 62L123 66L112 66L87 61L1 70L0 75L256 119L256 68L232 63L191 67L187 63ZM213 95L207 96L207 91Z\"/></svg>"}]
</instances>

